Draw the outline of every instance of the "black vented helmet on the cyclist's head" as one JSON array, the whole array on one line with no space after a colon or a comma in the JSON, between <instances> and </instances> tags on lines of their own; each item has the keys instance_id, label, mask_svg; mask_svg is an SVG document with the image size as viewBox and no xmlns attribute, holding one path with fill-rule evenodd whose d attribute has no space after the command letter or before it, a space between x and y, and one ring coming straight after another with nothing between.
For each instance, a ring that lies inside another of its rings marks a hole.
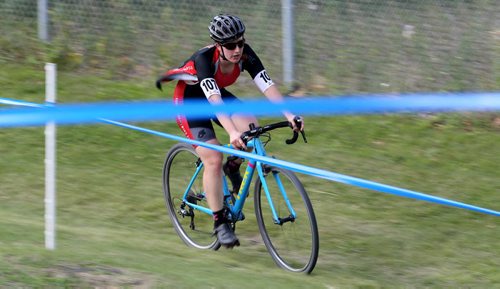
<instances>
[{"instance_id":1,"label":"black vented helmet on the cyclist's head","mask_svg":"<svg viewBox=\"0 0 500 289\"><path fill-rule=\"evenodd\" d=\"M210 31L210 38L215 42L225 43L243 36L245 25L236 16L219 14L210 21L208 30Z\"/></svg>"}]
</instances>

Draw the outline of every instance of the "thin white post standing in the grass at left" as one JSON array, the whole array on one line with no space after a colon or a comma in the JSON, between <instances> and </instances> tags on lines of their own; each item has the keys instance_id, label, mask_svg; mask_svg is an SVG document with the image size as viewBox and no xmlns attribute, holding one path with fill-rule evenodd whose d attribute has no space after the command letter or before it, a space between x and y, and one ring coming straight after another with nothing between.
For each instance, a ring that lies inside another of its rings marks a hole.
<instances>
[{"instance_id":1,"label":"thin white post standing in the grass at left","mask_svg":"<svg viewBox=\"0 0 500 289\"><path fill-rule=\"evenodd\" d=\"M54 63L45 64L45 101L56 102L56 68ZM45 126L45 248L56 248L56 124Z\"/></svg>"}]
</instances>

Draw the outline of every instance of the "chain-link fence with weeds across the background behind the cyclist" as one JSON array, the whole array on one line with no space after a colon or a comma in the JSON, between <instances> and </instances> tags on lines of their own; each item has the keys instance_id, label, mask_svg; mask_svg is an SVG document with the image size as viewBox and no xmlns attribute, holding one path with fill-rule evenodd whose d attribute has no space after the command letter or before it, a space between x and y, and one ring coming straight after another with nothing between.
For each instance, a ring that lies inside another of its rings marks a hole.
<instances>
[{"instance_id":1,"label":"chain-link fence with weeds across the background behind the cyclist","mask_svg":"<svg viewBox=\"0 0 500 289\"><path fill-rule=\"evenodd\" d=\"M273 79L283 76L280 1L48 1L49 44L35 41L36 2L0 0L3 61L157 74L209 44L208 22L225 12L244 20L245 37ZM500 88L496 0L293 3L294 75L306 92Z\"/></svg>"}]
</instances>

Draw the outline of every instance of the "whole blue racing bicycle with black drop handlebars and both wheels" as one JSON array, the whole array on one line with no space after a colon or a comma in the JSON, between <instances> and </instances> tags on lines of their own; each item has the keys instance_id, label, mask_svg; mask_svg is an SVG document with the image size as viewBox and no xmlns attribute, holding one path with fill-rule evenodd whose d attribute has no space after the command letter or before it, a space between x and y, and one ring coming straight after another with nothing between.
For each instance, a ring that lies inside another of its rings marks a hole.
<instances>
[{"instance_id":1,"label":"whole blue racing bicycle with black drop handlebars and both wheels","mask_svg":"<svg viewBox=\"0 0 500 289\"><path fill-rule=\"evenodd\" d=\"M242 139L253 154L266 156L265 146L271 140L270 131L283 127L291 127L291 124L288 121L262 127L251 124L250 130L242 134ZM293 137L286 140L287 144L297 140L298 133L293 133ZM302 136L307 142L303 132ZM293 172L248 160L236 195L229 191L227 177L224 177L224 205L233 230L237 222L245 219L243 207L255 171L254 209L268 252L279 267L310 273L318 259L318 227L311 201ZM212 234L212 211L203 192L202 175L203 163L193 146L185 143L173 146L167 153L163 168L165 202L175 231L188 246L217 250L220 244Z\"/></svg>"}]
</instances>

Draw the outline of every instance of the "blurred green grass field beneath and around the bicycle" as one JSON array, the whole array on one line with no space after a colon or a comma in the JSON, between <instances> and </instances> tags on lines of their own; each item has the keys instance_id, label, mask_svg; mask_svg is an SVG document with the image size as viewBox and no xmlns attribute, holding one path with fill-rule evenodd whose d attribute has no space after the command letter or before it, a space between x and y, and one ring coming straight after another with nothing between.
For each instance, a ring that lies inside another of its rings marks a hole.
<instances>
[{"instance_id":1,"label":"blurred green grass field beneath and around the bicycle","mask_svg":"<svg viewBox=\"0 0 500 289\"><path fill-rule=\"evenodd\" d=\"M4 65L0 96L43 101L43 69ZM152 81L60 73L60 102L156 99ZM306 118L278 158L500 210L498 115ZM262 123L270 119L261 120ZM139 123L180 134L172 122ZM320 229L313 274L275 266L252 202L242 246L186 247L161 187L174 142L109 125L58 128L57 249L44 249L43 128L0 129L0 288L500 288L498 217L299 175ZM253 195L251 195L252 197ZM300 240L297 240L300 242Z\"/></svg>"}]
</instances>

